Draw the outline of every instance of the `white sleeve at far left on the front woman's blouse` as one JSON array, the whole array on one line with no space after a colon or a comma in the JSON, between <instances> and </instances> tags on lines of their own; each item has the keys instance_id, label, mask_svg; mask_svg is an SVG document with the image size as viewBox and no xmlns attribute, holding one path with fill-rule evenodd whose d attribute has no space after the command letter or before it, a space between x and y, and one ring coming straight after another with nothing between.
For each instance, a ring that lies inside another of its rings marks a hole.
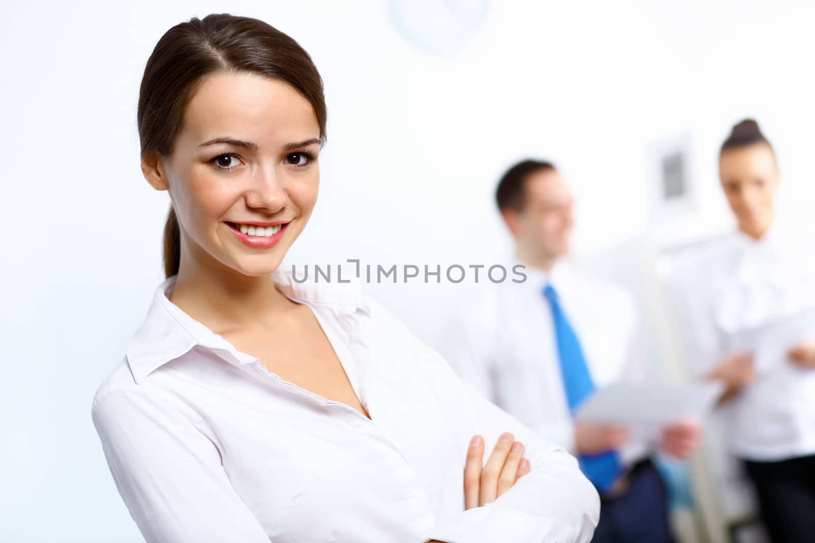
<instances>
[{"instance_id":1,"label":"white sleeve at far left on the front woman's blouse","mask_svg":"<svg viewBox=\"0 0 815 543\"><path fill-rule=\"evenodd\" d=\"M117 489L148 543L269 543L214 444L172 405L126 389L91 408Z\"/></svg>"}]
</instances>

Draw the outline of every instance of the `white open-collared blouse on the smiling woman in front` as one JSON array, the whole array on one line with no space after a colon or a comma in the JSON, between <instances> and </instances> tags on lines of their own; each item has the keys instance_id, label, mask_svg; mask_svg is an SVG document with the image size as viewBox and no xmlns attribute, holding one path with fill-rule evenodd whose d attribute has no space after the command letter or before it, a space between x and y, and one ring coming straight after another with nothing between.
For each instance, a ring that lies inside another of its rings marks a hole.
<instances>
[{"instance_id":1,"label":"white open-collared blouse on the smiling woman in front","mask_svg":"<svg viewBox=\"0 0 815 543\"><path fill-rule=\"evenodd\" d=\"M156 288L91 409L119 493L150 542L589 541L599 499L564 449L482 399L358 286L293 282L368 419L268 372ZM464 510L469 440L500 434L531 473Z\"/></svg>"}]
</instances>

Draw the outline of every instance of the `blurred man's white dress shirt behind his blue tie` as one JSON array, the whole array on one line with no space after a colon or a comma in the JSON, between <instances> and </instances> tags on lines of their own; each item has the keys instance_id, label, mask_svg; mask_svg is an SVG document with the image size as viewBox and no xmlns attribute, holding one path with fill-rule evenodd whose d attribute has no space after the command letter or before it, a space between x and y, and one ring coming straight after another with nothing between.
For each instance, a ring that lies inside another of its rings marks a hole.
<instances>
[{"instance_id":1,"label":"blurred man's white dress shirt behind his blue tie","mask_svg":"<svg viewBox=\"0 0 815 543\"><path fill-rule=\"evenodd\" d=\"M514 264L524 264L516 261ZM627 292L558 261L546 274L526 265L526 281L479 283L452 322L444 354L462 378L544 439L575 451L557 350L551 284L583 349L597 388L624 379L642 381L650 371ZM631 465L654 447L654 429L630 428L620 459Z\"/></svg>"}]
</instances>

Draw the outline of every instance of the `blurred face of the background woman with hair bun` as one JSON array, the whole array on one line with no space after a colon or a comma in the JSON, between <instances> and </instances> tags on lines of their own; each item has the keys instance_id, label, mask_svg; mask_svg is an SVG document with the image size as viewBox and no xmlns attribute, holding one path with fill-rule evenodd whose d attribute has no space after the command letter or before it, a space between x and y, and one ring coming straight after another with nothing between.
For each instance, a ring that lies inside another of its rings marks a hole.
<instances>
[{"instance_id":1,"label":"blurred face of the background woman with hair bun","mask_svg":"<svg viewBox=\"0 0 815 543\"><path fill-rule=\"evenodd\" d=\"M719 177L739 230L759 239L774 217L779 173L773 150L764 143L729 149L720 157Z\"/></svg>"}]
</instances>

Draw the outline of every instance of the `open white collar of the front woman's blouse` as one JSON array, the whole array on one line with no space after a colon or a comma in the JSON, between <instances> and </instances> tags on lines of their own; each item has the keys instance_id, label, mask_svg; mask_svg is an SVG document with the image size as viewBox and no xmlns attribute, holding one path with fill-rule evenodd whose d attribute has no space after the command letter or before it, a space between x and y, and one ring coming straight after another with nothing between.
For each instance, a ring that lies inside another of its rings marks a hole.
<instances>
[{"instance_id":1,"label":"open white collar of the front woman's blouse","mask_svg":"<svg viewBox=\"0 0 815 543\"><path fill-rule=\"evenodd\" d=\"M302 275L302 274L301 274ZM353 313L356 309L370 313L358 282L342 285L315 284L315 276L304 282L295 280L294 269L280 268L271 274L278 290L298 303L324 305L335 312ZM170 301L178 275L166 278L154 291L147 316L126 344L127 362L137 384L165 363L181 357L196 345L212 349L219 356L241 364L255 361L240 353L221 335L214 333Z\"/></svg>"}]
</instances>

